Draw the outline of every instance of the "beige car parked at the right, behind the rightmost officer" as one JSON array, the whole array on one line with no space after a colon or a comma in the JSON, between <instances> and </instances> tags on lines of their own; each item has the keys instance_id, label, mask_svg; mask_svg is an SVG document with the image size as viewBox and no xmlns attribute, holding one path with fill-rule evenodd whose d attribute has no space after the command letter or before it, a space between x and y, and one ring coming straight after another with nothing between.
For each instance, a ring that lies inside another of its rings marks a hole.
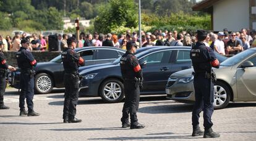
<instances>
[{"instance_id":1,"label":"beige car parked at the right, behind the rightmost officer","mask_svg":"<svg viewBox=\"0 0 256 141\"><path fill-rule=\"evenodd\" d=\"M166 85L167 98L179 102L194 102L193 69L173 73ZM215 109L225 108L229 102L256 101L256 48L248 49L214 69L217 82L214 86Z\"/></svg>"}]
</instances>

